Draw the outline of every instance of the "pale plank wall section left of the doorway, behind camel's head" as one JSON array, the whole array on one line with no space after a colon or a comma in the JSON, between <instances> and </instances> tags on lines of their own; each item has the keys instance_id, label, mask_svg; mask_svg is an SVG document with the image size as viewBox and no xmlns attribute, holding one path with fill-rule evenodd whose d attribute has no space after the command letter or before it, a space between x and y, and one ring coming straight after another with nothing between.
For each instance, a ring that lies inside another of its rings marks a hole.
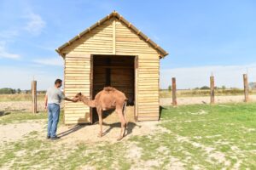
<instances>
[{"instance_id":1,"label":"pale plank wall section left of the doorway, behind camel's head","mask_svg":"<svg viewBox=\"0 0 256 170\"><path fill-rule=\"evenodd\" d=\"M90 55L69 54L65 59L65 95L73 98L81 92L90 96ZM82 102L65 101L65 124L90 122L90 108Z\"/></svg>"}]
</instances>

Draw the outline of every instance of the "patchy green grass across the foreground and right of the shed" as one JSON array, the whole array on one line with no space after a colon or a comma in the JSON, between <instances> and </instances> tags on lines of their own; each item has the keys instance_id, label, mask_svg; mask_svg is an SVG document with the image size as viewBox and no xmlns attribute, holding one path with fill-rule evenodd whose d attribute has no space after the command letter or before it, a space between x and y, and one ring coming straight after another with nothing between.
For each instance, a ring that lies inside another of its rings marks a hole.
<instances>
[{"instance_id":1,"label":"patchy green grass across the foreground and right of the shed","mask_svg":"<svg viewBox=\"0 0 256 170\"><path fill-rule=\"evenodd\" d=\"M0 147L0 168L148 169L148 162L150 169L170 169L173 165L185 169L256 168L255 104L170 106L162 110L159 126L165 130L118 143L72 147L39 139L39 134L32 132ZM130 144L137 145L140 157L127 156ZM158 163L152 163L155 161Z\"/></svg>"}]
</instances>

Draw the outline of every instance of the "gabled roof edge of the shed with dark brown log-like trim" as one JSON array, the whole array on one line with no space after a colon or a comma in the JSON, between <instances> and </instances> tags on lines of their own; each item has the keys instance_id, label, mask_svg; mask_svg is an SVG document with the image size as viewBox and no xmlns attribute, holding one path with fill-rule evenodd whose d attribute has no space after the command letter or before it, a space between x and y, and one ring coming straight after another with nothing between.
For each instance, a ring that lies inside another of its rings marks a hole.
<instances>
[{"instance_id":1,"label":"gabled roof edge of the shed with dark brown log-like trim","mask_svg":"<svg viewBox=\"0 0 256 170\"><path fill-rule=\"evenodd\" d=\"M143 34L142 31L137 29L137 27L133 26L131 24L131 22L129 22L128 20L125 20L125 18L122 15L120 15L119 13L117 13L116 11L113 11L111 14L108 14L108 16L104 17L102 20L97 21L94 25L92 25L89 28L87 28L86 30L80 32L79 35L77 35L76 37L73 37L71 40L69 40L68 42L61 45L61 47L56 48L55 51L63 57L64 55L61 53L61 50L63 48L66 48L67 46L71 45L73 42L79 40L80 37L83 37L85 34L90 32L97 26L101 26L102 23L104 23L107 20L112 19L113 17L121 20L128 28L130 28L132 31L135 31L139 37L142 37L145 42L148 42L148 44L152 48L154 48L155 50L157 50L159 52L161 58L165 57L168 54L163 48L160 48L160 46L157 43L155 43L149 37L147 37L145 34Z\"/></svg>"}]
</instances>

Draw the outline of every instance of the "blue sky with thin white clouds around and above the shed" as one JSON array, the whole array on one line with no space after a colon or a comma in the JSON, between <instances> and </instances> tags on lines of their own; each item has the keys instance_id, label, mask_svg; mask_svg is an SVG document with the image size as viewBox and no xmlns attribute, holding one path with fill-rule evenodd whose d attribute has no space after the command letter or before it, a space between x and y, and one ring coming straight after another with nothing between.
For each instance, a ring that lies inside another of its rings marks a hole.
<instances>
[{"instance_id":1,"label":"blue sky with thin white clouds around and above the shed","mask_svg":"<svg viewBox=\"0 0 256 170\"><path fill-rule=\"evenodd\" d=\"M254 0L0 0L0 88L38 89L63 79L55 52L117 10L169 55L160 60L160 88L209 84L242 88L256 82Z\"/></svg>"}]
</instances>

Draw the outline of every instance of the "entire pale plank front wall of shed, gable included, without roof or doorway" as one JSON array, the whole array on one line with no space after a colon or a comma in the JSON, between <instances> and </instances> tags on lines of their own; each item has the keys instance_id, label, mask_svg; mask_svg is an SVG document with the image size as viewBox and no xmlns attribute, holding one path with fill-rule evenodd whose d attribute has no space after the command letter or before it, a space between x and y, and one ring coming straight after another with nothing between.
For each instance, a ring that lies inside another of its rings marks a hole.
<instances>
[{"instance_id":1,"label":"entire pale plank front wall of shed, gable included, without roof or doorway","mask_svg":"<svg viewBox=\"0 0 256 170\"><path fill-rule=\"evenodd\" d=\"M80 91L90 96L90 54L138 56L135 97L138 121L158 120L159 54L122 21L111 19L102 23L63 48L61 53L66 54L65 93L68 97ZM65 123L89 122L89 111L82 103L65 102Z\"/></svg>"}]
</instances>

